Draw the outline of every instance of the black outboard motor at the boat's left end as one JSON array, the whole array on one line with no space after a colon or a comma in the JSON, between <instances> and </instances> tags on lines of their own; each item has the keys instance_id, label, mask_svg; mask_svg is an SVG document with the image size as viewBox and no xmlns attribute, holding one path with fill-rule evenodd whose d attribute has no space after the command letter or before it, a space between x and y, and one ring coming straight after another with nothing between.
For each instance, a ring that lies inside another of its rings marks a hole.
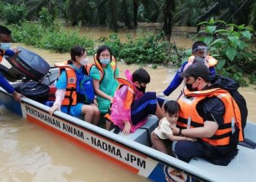
<instances>
[{"instance_id":1,"label":"black outboard motor at the boat's left end","mask_svg":"<svg viewBox=\"0 0 256 182\"><path fill-rule=\"evenodd\" d=\"M12 65L12 68L4 71L4 76L10 81L15 79L32 79L34 81L41 80L48 71L50 70L50 65L39 55L23 47L17 47L20 51L18 55L12 57L7 57L7 61ZM2 66L1 66L2 67ZM3 69L3 68L1 68ZM7 75L9 74L9 76Z\"/></svg>"}]
</instances>

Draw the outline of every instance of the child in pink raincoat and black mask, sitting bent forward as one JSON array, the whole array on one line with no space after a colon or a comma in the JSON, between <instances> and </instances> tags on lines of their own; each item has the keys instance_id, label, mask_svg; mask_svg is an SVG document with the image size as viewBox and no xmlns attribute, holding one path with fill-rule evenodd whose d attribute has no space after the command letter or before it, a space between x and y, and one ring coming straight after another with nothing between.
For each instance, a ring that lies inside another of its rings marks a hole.
<instances>
[{"instance_id":1,"label":"child in pink raincoat and black mask, sitting bent forward","mask_svg":"<svg viewBox=\"0 0 256 182\"><path fill-rule=\"evenodd\" d=\"M105 117L128 135L146 123L148 114L162 119L160 106L164 100L158 100L156 92L145 92L150 82L145 69L139 68L133 74L127 70L125 76L127 79L118 78L120 85L113 96L111 111Z\"/></svg>"}]
</instances>

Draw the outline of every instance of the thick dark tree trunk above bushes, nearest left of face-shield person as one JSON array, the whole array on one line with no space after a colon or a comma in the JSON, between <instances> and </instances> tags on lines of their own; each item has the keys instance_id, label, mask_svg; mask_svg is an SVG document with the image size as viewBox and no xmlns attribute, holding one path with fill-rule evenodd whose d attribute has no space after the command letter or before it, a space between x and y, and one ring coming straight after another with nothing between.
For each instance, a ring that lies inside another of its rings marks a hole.
<instances>
[{"instance_id":1,"label":"thick dark tree trunk above bushes, nearest left of face-shield person","mask_svg":"<svg viewBox=\"0 0 256 182\"><path fill-rule=\"evenodd\" d=\"M167 41L170 41L170 35L172 33L172 20L174 9L175 0L165 0L165 4L163 7L164 25L162 30L165 32L165 36L167 36Z\"/></svg>"}]
</instances>

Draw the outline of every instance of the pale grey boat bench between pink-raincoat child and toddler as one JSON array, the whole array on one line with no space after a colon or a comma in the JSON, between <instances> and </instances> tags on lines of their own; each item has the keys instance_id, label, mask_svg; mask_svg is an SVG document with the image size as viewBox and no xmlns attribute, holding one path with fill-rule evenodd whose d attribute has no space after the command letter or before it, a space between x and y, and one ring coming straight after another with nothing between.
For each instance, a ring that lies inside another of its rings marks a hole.
<instances>
[{"instance_id":1,"label":"pale grey boat bench between pink-raincoat child and toddler","mask_svg":"<svg viewBox=\"0 0 256 182\"><path fill-rule=\"evenodd\" d=\"M158 119L157 116L151 115L148 116L147 122L134 133L130 133L129 135L124 135L122 132L119 132L118 135L124 136L125 138L129 138L132 141L136 141L145 146L151 146L151 132L158 127ZM113 132L113 130L111 130Z\"/></svg>"}]
</instances>

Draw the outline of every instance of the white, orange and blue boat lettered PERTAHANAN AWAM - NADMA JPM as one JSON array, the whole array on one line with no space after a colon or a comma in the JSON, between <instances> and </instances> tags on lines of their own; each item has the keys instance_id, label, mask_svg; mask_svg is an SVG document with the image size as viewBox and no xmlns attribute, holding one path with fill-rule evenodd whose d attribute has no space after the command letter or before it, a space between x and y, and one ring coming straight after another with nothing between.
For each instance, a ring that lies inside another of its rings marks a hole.
<instances>
[{"instance_id":1,"label":"white, orange and blue boat lettered PERTAHANAN AWAM - NADMA JPM","mask_svg":"<svg viewBox=\"0 0 256 182\"><path fill-rule=\"evenodd\" d=\"M59 68L49 68L48 74L41 76L40 82L53 84L58 73ZM22 80L10 84L18 87ZM248 143L247 146L238 145L238 155L227 166L213 165L200 158L186 163L151 149L150 134L157 127L157 116L148 116L146 124L135 133L124 136L121 132L116 134L104 130L61 111L55 111L50 116L49 107L45 104L30 98L22 98L19 103L1 87L0 104L27 121L39 124L151 181L255 181L256 178L256 150L248 147ZM247 122L244 133L253 144L256 141L256 124Z\"/></svg>"}]
</instances>

